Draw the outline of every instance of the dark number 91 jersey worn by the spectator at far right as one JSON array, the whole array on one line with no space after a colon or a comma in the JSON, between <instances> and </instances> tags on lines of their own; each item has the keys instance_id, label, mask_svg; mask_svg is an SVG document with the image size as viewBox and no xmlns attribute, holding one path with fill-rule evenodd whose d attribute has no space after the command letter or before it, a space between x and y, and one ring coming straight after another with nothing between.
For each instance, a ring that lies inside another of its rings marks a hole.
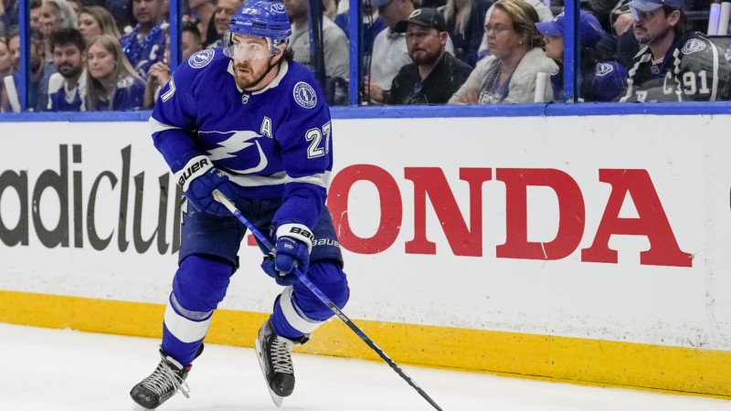
<instances>
[{"instance_id":1,"label":"dark number 91 jersey worn by the spectator at far right","mask_svg":"<svg viewBox=\"0 0 731 411\"><path fill-rule=\"evenodd\" d=\"M723 51L697 33L676 38L659 64L653 64L650 47L642 48L628 75L628 87L620 101L716 101L731 97L731 66Z\"/></svg>"}]
</instances>

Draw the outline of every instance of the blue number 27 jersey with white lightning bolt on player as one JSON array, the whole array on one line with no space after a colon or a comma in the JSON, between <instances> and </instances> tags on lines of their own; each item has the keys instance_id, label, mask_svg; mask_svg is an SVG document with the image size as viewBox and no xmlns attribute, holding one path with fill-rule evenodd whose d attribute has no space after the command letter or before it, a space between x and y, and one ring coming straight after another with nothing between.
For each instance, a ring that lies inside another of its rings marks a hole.
<instances>
[{"instance_id":1,"label":"blue number 27 jersey with white lightning bolt on player","mask_svg":"<svg viewBox=\"0 0 731 411\"><path fill-rule=\"evenodd\" d=\"M273 222L314 227L333 169L330 110L312 73L283 62L266 88L238 88L231 59L209 48L175 70L150 119L175 173L207 155L249 198L281 198Z\"/></svg>"}]
</instances>

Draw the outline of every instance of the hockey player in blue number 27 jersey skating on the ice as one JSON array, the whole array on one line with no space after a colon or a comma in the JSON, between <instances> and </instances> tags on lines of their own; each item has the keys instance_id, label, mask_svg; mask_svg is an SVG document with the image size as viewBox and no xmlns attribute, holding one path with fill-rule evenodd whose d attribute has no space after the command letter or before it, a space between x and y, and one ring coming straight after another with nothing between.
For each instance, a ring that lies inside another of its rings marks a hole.
<instances>
[{"instance_id":1,"label":"hockey player in blue number 27 jersey skating on the ice","mask_svg":"<svg viewBox=\"0 0 731 411\"><path fill-rule=\"evenodd\" d=\"M339 307L348 300L341 250L324 205L333 166L330 111L313 75L291 61L290 36L281 2L250 0L231 18L224 47L191 56L154 106L154 145L187 201L162 360L130 393L145 408L160 406L178 390L187 396L185 377L238 269L246 228L214 200L214 190L275 244L276 253L261 267L285 288L260 327L256 352L277 405L294 388L291 347L333 316L293 269Z\"/></svg>"}]
</instances>

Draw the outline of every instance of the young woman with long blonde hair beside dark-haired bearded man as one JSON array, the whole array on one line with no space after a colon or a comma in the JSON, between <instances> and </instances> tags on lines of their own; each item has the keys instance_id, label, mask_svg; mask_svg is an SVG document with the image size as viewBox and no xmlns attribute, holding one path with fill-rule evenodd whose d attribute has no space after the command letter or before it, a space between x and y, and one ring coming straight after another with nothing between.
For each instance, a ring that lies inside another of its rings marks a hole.
<instances>
[{"instance_id":1,"label":"young woman with long blonde hair beside dark-haired bearded man","mask_svg":"<svg viewBox=\"0 0 731 411\"><path fill-rule=\"evenodd\" d=\"M116 38L101 35L91 39L86 59L88 111L124 111L142 107L144 81L132 68Z\"/></svg>"}]
</instances>

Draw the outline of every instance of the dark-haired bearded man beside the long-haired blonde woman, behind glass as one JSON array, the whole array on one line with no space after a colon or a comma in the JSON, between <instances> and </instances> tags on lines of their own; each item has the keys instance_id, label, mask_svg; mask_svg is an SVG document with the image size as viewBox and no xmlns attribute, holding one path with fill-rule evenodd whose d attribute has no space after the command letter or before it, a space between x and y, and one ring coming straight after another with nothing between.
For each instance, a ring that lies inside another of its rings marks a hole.
<instances>
[{"instance_id":1,"label":"dark-haired bearded man beside the long-haired blonde woman, behind glass","mask_svg":"<svg viewBox=\"0 0 731 411\"><path fill-rule=\"evenodd\" d=\"M86 84L79 79L86 65L86 41L76 28L58 29L51 37L54 73L48 81L49 111L82 111Z\"/></svg>"}]
</instances>

